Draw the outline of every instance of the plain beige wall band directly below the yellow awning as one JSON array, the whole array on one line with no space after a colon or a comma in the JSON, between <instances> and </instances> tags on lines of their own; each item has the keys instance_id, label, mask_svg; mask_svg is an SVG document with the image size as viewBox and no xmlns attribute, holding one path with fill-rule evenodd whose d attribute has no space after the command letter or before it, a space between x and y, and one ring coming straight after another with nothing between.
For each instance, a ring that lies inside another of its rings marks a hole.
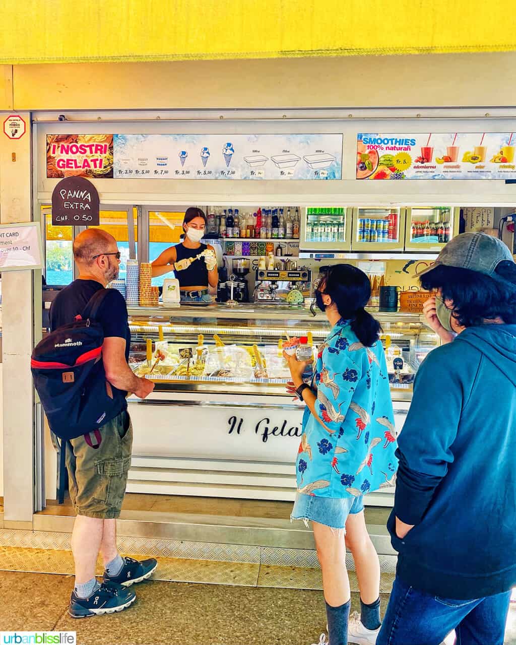
<instances>
[{"instance_id":1,"label":"plain beige wall band directly below the yellow awning","mask_svg":"<svg viewBox=\"0 0 516 645\"><path fill-rule=\"evenodd\" d=\"M419 106L415 115L421 108L513 106L515 66L513 52L15 65L14 108Z\"/></svg>"}]
</instances>

